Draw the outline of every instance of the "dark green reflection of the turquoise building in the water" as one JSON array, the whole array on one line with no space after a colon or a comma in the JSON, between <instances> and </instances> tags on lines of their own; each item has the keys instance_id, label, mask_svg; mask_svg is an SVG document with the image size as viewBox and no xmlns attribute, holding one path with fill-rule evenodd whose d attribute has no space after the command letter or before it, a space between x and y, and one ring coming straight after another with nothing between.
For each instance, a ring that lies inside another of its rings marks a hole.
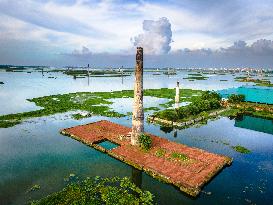
<instances>
[{"instance_id":1,"label":"dark green reflection of the turquoise building in the water","mask_svg":"<svg viewBox=\"0 0 273 205\"><path fill-rule=\"evenodd\" d=\"M273 134L273 121L263 118L251 117L243 115L240 118L236 118L235 127L246 128L249 130L255 130L268 134Z\"/></svg>"}]
</instances>

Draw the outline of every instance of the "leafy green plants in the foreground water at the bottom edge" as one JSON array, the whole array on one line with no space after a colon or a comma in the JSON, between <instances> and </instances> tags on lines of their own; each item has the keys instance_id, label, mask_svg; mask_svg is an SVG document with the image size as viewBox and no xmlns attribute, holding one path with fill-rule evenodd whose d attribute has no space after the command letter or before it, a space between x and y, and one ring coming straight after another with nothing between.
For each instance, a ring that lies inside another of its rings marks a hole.
<instances>
[{"instance_id":1,"label":"leafy green plants in the foreground water at the bottom edge","mask_svg":"<svg viewBox=\"0 0 273 205\"><path fill-rule=\"evenodd\" d=\"M59 192L31 202L31 205L70 204L151 205L153 195L142 191L127 177L96 177L70 183Z\"/></svg>"}]
</instances>

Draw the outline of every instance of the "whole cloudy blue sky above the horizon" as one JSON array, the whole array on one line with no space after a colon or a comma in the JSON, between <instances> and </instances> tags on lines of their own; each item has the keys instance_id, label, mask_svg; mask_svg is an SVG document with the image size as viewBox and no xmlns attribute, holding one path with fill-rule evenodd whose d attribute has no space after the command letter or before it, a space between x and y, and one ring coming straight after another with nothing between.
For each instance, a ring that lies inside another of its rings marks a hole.
<instances>
[{"instance_id":1,"label":"whole cloudy blue sky above the horizon","mask_svg":"<svg viewBox=\"0 0 273 205\"><path fill-rule=\"evenodd\" d=\"M0 0L0 64L273 65L272 0Z\"/></svg>"}]
</instances>

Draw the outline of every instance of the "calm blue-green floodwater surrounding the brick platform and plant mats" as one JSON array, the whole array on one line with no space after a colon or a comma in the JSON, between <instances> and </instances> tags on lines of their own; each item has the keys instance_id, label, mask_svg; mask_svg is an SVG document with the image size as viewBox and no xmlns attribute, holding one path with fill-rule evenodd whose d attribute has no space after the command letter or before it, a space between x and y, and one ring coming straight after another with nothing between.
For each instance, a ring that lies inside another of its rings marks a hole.
<instances>
[{"instance_id":1,"label":"calm blue-green floodwater surrounding the brick platform and plant mats","mask_svg":"<svg viewBox=\"0 0 273 205\"><path fill-rule=\"evenodd\" d=\"M54 76L54 78L48 78ZM179 80L182 88L220 90L239 87L232 75L212 75L204 81L187 81L186 72L177 76L144 75L145 88L174 88ZM56 79L55 79L56 78ZM220 81L220 80L228 81ZM74 80L61 73L0 72L0 114L39 109L28 98L77 91L111 91L133 88L133 76L121 78L87 78ZM162 99L145 98L148 106ZM151 103L152 102L152 103ZM112 105L117 111L132 112L131 101ZM146 114L147 115L147 114ZM62 189L70 174L87 176L129 176L143 189L155 195L158 204L229 205L272 204L273 201L273 134L272 121L244 116L242 119L220 118L201 127L184 130L164 130L145 122L145 131L172 141L228 155L233 164L213 178L196 199L175 187L159 182L132 167L59 133L62 128L110 120L131 126L131 117L106 118L93 116L75 120L70 113L33 118L11 127L0 128L0 204L25 204L30 199L44 197ZM232 146L241 145L250 154L235 152ZM108 146L108 145L106 145ZM34 184L40 190L27 192Z\"/></svg>"}]
</instances>

